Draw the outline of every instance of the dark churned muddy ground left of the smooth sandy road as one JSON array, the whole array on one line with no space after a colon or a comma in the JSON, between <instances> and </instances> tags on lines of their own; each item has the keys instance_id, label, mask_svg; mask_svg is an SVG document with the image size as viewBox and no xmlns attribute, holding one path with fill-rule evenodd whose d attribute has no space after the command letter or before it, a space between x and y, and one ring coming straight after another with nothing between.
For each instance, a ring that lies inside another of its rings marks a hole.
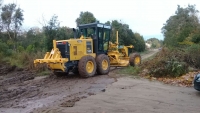
<instances>
[{"instance_id":1,"label":"dark churned muddy ground left of the smooth sandy road","mask_svg":"<svg viewBox=\"0 0 200 113\"><path fill-rule=\"evenodd\" d=\"M76 75L69 77L52 75L25 81L19 80L19 82L16 82L18 78L13 78L13 80L15 82L7 80L7 84L1 84L0 112L2 113L41 112L37 109L59 107L62 104L66 107L73 106L80 99L104 92L108 84L116 81L115 78L107 75L87 79ZM1 83L5 82L2 80Z\"/></svg>"}]
</instances>

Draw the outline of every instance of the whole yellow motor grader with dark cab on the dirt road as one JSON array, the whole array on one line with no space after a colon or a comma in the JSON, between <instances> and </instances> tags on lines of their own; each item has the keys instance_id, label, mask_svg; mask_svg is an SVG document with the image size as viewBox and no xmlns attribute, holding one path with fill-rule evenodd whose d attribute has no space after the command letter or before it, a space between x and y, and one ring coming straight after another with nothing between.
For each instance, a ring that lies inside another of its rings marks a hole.
<instances>
[{"instance_id":1,"label":"whole yellow motor grader with dark cab on the dirt road","mask_svg":"<svg viewBox=\"0 0 200 113\"><path fill-rule=\"evenodd\" d=\"M141 56L130 54L130 46L119 46L118 32L116 43L110 42L111 26L101 23L90 23L78 26L74 38L69 40L53 40L53 49L43 59L34 60L34 64L46 63L55 75L73 72L82 77L97 74L108 74L111 66L135 66L141 63Z\"/></svg>"}]
</instances>

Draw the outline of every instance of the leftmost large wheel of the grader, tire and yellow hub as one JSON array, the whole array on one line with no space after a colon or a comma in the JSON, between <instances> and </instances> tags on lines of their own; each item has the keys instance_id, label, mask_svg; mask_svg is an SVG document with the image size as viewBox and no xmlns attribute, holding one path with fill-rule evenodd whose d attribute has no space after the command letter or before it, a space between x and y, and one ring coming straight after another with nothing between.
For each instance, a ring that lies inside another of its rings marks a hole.
<instances>
[{"instance_id":1,"label":"leftmost large wheel of the grader, tire and yellow hub","mask_svg":"<svg viewBox=\"0 0 200 113\"><path fill-rule=\"evenodd\" d=\"M96 62L94 57L87 55L83 56L78 63L78 71L82 77L91 77L96 72Z\"/></svg>"}]
</instances>

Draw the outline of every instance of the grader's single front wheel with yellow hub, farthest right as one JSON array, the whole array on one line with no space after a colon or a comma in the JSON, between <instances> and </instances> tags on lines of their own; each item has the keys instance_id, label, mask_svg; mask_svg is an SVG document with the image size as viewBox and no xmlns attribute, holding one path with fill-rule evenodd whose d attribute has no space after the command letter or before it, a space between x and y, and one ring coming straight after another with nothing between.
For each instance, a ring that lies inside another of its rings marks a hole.
<instances>
[{"instance_id":1,"label":"grader's single front wheel with yellow hub, farthest right","mask_svg":"<svg viewBox=\"0 0 200 113\"><path fill-rule=\"evenodd\" d=\"M132 53L129 56L129 63L131 66L138 66L141 64L141 56L139 53Z\"/></svg>"}]
</instances>

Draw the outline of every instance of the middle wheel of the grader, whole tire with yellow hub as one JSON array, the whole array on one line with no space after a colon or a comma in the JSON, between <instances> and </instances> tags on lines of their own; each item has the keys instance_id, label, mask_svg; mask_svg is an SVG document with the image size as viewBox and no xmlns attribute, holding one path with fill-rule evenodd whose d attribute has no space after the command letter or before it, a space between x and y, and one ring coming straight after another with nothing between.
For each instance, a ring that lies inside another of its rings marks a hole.
<instances>
[{"instance_id":1,"label":"middle wheel of the grader, whole tire with yellow hub","mask_svg":"<svg viewBox=\"0 0 200 113\"><path fill-rule=\"evenodd\" d=\"M96 57L97 73L100 75L108 74L110 71L110 60L107 55L101 54Z\"/></svg>"}]
</instances>

